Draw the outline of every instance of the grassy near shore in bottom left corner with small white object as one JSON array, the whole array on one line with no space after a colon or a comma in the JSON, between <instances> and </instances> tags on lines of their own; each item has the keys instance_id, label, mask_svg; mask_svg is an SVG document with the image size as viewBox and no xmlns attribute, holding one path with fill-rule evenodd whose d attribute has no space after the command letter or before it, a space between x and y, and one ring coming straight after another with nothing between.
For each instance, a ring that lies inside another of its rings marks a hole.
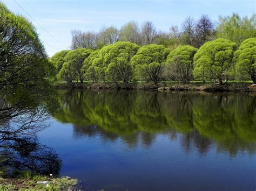
<instances>
[{"instance_id":1,"label":"grassy near shore in bottom left corner with small white object","mask_svg":"<svg viewBox=\"0 0 256 191\"><path fill-rule=\"evenodd\" d=\"M18 176L0 178L0 190L75 190L76 179L68 176L50 178L50 176L23 173Z\"/></svg>"}]
</instances>

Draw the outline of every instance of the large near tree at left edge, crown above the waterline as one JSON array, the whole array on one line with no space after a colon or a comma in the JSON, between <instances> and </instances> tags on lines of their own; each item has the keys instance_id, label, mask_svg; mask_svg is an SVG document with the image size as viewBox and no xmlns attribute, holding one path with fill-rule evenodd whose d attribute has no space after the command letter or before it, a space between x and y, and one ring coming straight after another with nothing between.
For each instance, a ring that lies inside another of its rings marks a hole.
<instances>
[{"instance_id":1,"label":"large near tree at left edge, crown above the waterline","mask_svg":"<svg viewBox=\"0 0 256 191\"><path fill-rule=\"evenodd\" d=\"M0 2L0 86L41 83L52 69L35 27Z\"/></svg>"}]
</instances>

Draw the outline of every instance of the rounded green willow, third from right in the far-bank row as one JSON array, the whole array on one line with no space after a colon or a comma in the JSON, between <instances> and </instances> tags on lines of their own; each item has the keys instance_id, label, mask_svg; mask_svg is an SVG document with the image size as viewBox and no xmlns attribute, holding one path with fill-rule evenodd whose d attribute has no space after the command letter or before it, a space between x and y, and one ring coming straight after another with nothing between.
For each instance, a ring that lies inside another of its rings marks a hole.
<instances>
[{"instance_id":1,"label":"rounded green willow, third from right in the far-bank row","mask_svg":"<svg viewBox=\"0 0 256 191\"><path fill-rule=\"evenodd\" d=\"M184 45L170 52L166 60L166 71L169 79L188 83L193 79L193 57L197 48Z\"/></svg>"}]
</instances>

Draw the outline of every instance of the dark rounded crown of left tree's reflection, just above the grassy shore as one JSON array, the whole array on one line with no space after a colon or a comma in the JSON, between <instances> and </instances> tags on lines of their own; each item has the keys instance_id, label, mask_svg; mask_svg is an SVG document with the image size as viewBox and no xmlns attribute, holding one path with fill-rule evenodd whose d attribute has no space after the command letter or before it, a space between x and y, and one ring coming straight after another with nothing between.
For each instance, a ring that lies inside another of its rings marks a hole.
<instances>
[{"instance_id":1,"label":"dark rounded crown of left tree's reflection, just above the grassy shore","mask_svg":"<svg viewBox=\"0 0 256 191\"><path fill-rule=\"evenodd\" d=\"M57 176L61 167L56 152L40 144L36 136L2 135L0 156L0 164L5 167L5 173L19 170Z\"/></svg>"}]
</instances>

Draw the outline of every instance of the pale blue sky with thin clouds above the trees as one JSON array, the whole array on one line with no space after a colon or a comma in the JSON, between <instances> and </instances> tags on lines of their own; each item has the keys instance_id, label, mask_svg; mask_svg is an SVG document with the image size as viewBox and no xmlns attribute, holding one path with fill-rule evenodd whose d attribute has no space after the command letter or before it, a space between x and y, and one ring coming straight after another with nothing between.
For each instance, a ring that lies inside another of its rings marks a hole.
<instances>
[{"instance_id":1,"label":"pale blue sky with thin clouds above the trees","mask_svg":"<svg viewBox=\"0 0 256 191\"><path fill-rule=\"evenodd\" d=\"M197 19L207 14L217 20L219 15L227 16L237 12L242 17L251 17L256 8L255 0L16 0L35 22L15 0L0 1L9 10L27 17L36 26L50 56L69 48L70 31L74 29L98 31L102 26L119 28L130 20L139 23L150 20L158 30L168 31L172 25L180 27L187 16Z\"/></svg>"}]
</instances>

